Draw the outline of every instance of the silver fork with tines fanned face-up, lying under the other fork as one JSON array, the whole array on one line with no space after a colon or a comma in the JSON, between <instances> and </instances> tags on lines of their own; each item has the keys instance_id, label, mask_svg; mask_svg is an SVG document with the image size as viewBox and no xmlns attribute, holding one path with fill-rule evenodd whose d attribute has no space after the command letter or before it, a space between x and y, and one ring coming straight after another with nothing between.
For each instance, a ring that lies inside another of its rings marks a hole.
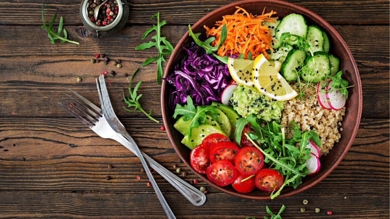
<instances>
[{"instance_id":1,"label":"silver fork with tines fanned face-up, lying under the other fork","mask_svg":"<svg viewBox=\"0 0 390 219\"><path fill-rule=\"evenodd\" d=\"M70 90L70 89L69 89ZM80 108L76 107L74 104L72 104L71 102L67 101L66 99L64 99L70 106L72 106L74 109L76 109L77 111L79 111L80 113L82 113L82 115L84 115L85 117L87 117L87 119L89 119L92 124L90 122L88 122L87 120L85 120L83 117L81 117L80 115L78 115L77 113L75 113L74 111L72 111L71 109L67 108L66 106L64 106L63 104L61 104L60 102L58 102L61 106L63 106L67 111L69 111L69 113L71 113L74 117L78 118L81 122L83 122L83 124L87 125L90 129L92 129L92 131L96 132L96 134L98 134L99 136L103 137L103 138L110 138L110 139L113 139L113 140L116 140L118 141L119 143L121 143L122 145L124 145L126 148L128 148L131 152L133 152L135 155L136 152L135 152L135 149L133 148L134 146L131 145L131 143L129 141L126 140L126 138L124 138L123 136L121 136L120 134L117 134L115 131L113 131L113 129L110 127L110 125L108 124L106 118L105 118L105 115L103 113L103 110L100 109L99 107L97 107L95 104L93 104L92 102L88 101L87 99L85 99L84 97L82 97L81 95L77 94L76 92L74 92L73 90L70 90L74 95L76 95L78 98L80 98L83 102L85 102L86 104L88 104L92 109L94 109L95 111L97 111L99 113L96 114L94 113L94 111L90 110L89 108L87 108L86 106L84 106L83 104L81 104L79 101L77 101L76 99L74 99L73 97L70 97L69 95L67 95L69 98L72 99L73 102L76 102L79 106L81 106L83 109L85 109L88 113L90 113L90 115L92 115L94 118L90 117L87 113L85 113L84 111L82 111ZM159 164L158 162L154 161L151 157L149 157L148 155L144 154L142 152L142 155L145 157L145 159L147 160L147 162L149 163L149 165L154 169L156 170L158 173L160 173L160 175L165 178L170 184L172 184L181 194L184 195L184 197L186 197L193 205L195 206L200 206L200 205L203 205L204 202L206 201L206 196L200 192L198 189L196 189L195 187L193 187L192 185L188 184L187 182L185 182L184 180L182 180L181 178L177 177L176 175L174 175L171 171L167 170L166 168L164 168L163 166L161 166L161 164Z\"/></svg>"}]
</instances>

